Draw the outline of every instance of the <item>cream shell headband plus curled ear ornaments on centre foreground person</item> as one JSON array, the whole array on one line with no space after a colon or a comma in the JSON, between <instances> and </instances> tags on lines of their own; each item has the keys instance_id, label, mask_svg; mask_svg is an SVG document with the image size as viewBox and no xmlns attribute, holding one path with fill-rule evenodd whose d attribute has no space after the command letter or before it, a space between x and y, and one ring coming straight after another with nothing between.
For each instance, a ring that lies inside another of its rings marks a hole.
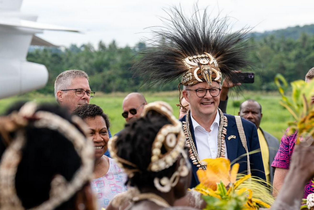
<instances>
[{"instance_id":1,"label":"cream shell headband plus curled ear ornaments on centre foreground person","mask_svg":"<svg viewBox=\"0 0 314 210\"><path fill-rule=\"evenodd\" d=\"M186 166L187 154L184 151L185 135L182 129L182 123L172 115L172 108L169 104L163 101L155 101L145 105L142 117L146 116L149 111L157 111L166 116L171 124L165 124L160 128L159 132L154 138L151 149L150 163L146 168L149 172L160 172L166 168L171 167L182 155L184 158L180 159L180 165L176 172L169 177L154 178L154 186L161 192L169 192L174 187L180 177L188 175L189 170ZM112 137L108 142L111 157L116 160L119 167L122 167L129 177L133 177L134 173L142 173L137 165L124 160L117 155L116 140L117 136Z\"/></svg>"}]
</instances>

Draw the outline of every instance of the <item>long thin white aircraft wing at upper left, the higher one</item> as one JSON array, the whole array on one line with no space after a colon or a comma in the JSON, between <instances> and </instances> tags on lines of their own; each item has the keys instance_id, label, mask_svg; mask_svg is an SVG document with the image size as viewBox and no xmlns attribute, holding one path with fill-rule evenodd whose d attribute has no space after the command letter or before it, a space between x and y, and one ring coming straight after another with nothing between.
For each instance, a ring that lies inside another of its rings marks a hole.
<instances>
[{"instance_id":1,"label":"long thin white aircraft wing at upper left, the higher one","mask_svg":"<svg viewBox=\"0 0 314 210\"><path fill-rule=\"evenodd\" d=\"M0 26L11 26L11 27L21 27L21 28L38 29L38 30L51 30L51 31L80 32L80 30L74 29L74 28L38 23L35 21L30 21L30 20L18 20L18 21L0 20Z\"/></svg>"}]
</instances>

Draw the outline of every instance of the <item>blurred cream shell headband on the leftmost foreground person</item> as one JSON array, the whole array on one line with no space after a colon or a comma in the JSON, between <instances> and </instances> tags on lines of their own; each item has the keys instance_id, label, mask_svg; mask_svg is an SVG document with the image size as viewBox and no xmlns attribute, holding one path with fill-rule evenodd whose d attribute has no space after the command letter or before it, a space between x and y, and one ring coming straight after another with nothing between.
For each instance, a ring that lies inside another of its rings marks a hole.
<instances>
[{"instance_id":1,"label":"blurred cream shell headband on the leftmost foreground person","mask_svg":"<svg viewBox=\"0 0 314 210\"><path fill-rule=\"evenodd\" d=\"M15 176L19 162L22 159L22 149L26 143L24 138L23 126L28 125L28 119L35 119L33 125L35 128L49 128L64 135L73 143L78 156L81 158L82 165L75 172L73 179L67 181L62 175L57 174L51 181L50 197L39 206L31 210L52 210L61 203L71 198L82 186L93 176L94 167L94 146L92 141L86 140L85 136L77 128L62 117L47 111L36 111L36 104L26 103L18 113L3 118L12 125L8 131L16 131L14 140L8 142L8 147L3 153L0 162L0 207L1 210L24 210L15 189ZM72 121L85 131L84 122L77 116L72 117ZM22 122L22 123L21 123ZM1 133L8 127L1 123ZM15 126L14 126L15 125ZM19 125L19 126L16 126ZM15 128L15 129L14 129Z\"/></svg>"}]
</instances>

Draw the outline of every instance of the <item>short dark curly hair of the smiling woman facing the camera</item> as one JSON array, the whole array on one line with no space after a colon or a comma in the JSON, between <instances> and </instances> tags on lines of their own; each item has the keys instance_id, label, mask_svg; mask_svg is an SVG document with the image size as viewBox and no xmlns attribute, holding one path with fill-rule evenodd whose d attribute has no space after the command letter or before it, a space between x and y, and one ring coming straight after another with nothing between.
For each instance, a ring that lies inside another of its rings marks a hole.
<instances>
[{"instance_id":1,"label":"short dark curly hair of the smiling woman facing the camera","mask_svg":"<svg viewBox=\"0 0 314 210\"><path fill-rule=\"evenodd\" d=\"M72 112L73 115L77 115L83 120L87 117L95 118L96 116L102 116L106 122L107 129L110 127L110 121L108 115L95 104L83 104L74 109Z\"/></svg>"}]
</instances>

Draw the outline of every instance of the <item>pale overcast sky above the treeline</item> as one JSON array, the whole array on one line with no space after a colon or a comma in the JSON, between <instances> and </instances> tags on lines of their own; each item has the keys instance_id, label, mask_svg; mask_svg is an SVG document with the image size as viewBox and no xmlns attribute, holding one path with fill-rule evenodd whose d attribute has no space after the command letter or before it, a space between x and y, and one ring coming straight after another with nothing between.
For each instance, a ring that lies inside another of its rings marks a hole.
<instances>
[{"instance_id":1,"label":"pale overcast sky above the treeline","mask_svg":"<svg viewBox=\"0 0 314 210\"><path fill-rule=\"evenodd\" d=\"M146 34L149 26L160 26L163 8L181 4L188 14L193 0L24 0L21 11L38 15L38 22L84 31L45 31L39 36L53 44L69 46L113 39L123 47L134 46ZM199 8L209 6L214 15L232 17L235 29L254 26L263 32L288 26L314 23L313 0L199 0Z\"/></svg>"}]
</instances>

